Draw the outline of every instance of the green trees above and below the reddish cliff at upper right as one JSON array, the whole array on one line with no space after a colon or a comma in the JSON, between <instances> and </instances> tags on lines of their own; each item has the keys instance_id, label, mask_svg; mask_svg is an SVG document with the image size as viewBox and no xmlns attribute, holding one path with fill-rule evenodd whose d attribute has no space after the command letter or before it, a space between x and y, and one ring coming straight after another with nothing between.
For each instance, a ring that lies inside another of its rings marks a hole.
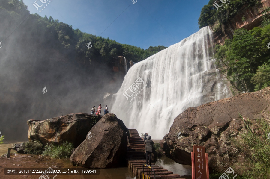
<instances>
[{"instance_id":1,"label":"green trees above and below the reddish cliff at upper right","mask_svg":"<svg viewBox=\"0 0 270 179\"><path fill-rule=\"evenodd\" d=\"M216 33L239 10L255 6L260 0L233 0L223 10L222 7L217 10L213 3L211 0L202 8L199 27L210 25ZM249 31L236 29L232 39L226 39L224 45L216 45L217 68L239 91L253 92L270 86L270 47L267 47L270 43L269 11L270 8L264 10L260 27Z\"/></svg>"}]
</instances>

